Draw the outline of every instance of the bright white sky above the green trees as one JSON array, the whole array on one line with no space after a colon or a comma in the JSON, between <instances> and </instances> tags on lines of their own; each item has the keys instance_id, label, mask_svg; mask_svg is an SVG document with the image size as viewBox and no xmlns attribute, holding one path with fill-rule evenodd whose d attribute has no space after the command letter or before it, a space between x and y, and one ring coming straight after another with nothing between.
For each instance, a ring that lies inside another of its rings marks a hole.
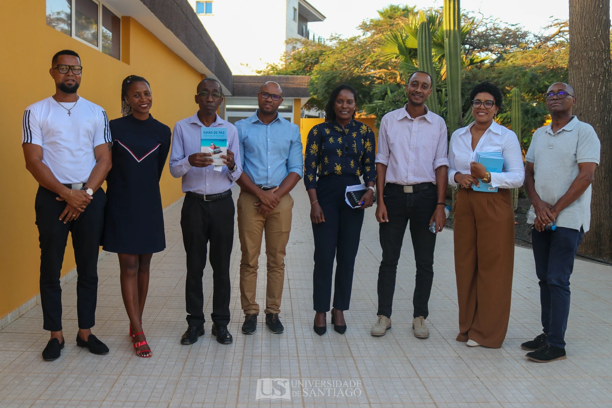
<instances>
[{"instance_id":1,"label":"bright white sky above the green trees","mask_svg":"<svg viewBox=\"0 0 612 408\"><path fill-rule=\"evenodd\" d=\"M366 18L376 18L376 10L388 4L409 4L423 7L441 7L444 0L308 0L327 18L320 23L308 23L308 28L321 37L337 33L346 37L360 34L356 27ZM510 24L520 24L524 29L540 32L553 18L567 19L569 0L461 0L461 9L477 12L485 17L493 16Z\"/></svg>"}]
</instances>

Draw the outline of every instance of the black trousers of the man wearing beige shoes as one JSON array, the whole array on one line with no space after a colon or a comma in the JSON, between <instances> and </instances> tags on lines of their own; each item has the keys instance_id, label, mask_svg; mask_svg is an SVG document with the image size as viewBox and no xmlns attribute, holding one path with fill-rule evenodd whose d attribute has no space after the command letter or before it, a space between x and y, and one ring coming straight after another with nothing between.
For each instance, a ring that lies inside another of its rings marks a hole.
<instances>
[{"instance_id":1,"label":"black trousers of the man wearing beige shoes","mask_svg":"<svg viewBox=\"0 0 612 408\"><path fill-rule=\"evenodd\" d=\"M406 226L410 221L410 236L417 267L412 297L413 317L427 318L427 303L433 283L433 250L436 247L436 234L429 231L429 220L436 210L438 188L432 184L427 190L404 193L403 190L386 186L383 197L389 222L379 224L383 261L378 269L378 314L391 317L397 262Z\"/></svg>"}]
</instances>

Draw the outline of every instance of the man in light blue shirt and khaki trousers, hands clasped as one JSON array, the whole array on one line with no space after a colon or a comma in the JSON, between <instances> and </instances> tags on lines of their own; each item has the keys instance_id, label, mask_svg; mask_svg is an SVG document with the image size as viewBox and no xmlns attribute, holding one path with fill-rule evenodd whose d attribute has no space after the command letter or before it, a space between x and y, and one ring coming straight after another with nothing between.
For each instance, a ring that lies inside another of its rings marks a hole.
<instances>
[{"instance_id":1,"label":"man in light blue shirt and khaki trousers, hands clasped","mask_svg":"<svg viewBox=\"0 0 612 408\"><path fill-rule=\"evenodd\" d=\"M285 247L291 231L293 190L302 178L303 153L299 127L278 115L283 90L275 82L263 84L257 94L259 109L236 122L242 174L238 198L238 236L242 259L240 293L245 318L242 333L257 327L258 259L261 237L266 231L267 287L266 324L272 333L282 333L278 319L285 280Z\"/></svg>"}]
</instances>

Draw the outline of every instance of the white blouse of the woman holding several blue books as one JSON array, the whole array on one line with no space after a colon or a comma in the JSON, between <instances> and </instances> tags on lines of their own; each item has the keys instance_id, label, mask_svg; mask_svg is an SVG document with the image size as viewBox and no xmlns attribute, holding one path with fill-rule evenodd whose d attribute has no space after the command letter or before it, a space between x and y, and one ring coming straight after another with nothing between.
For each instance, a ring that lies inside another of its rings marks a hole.
<instances>
[{"instance_id":1,"label":"white blouse of the woman holding several blue books","mask_svg":"<svg viewBox=\"0 0 612 408\"><path fill-rule=\"evenodd\" d=\"M469 163L476 160L476 152L501 152L504 168L501 173L491 172L491 185L501 188L521 187L525 179L525 169L517 135L493 121L478 141L476 149L472 150L472 134L469 130L474 123L476 122L455 130L450 136L449 184L457 187L455 182L457 172L470 174Z\"/></svg>"}]
</instances>

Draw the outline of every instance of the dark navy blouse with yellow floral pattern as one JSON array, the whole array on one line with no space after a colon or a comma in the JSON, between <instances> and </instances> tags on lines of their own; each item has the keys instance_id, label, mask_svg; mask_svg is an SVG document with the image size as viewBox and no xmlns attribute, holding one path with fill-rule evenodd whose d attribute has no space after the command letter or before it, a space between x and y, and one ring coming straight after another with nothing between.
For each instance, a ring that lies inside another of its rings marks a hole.
<instances>
[{"instance_id":1,"label":"dark navy blouse with yellow floral pattern","mask_svg":"<svg viewBox=\"0 0 612 408\"><path fill-rule=\"evenodd\" d=\"M317 177L364 176L375 181L375 139L371 128L351 120L344 128L334 122L315 125L308 133L304 159L306 189L316 188Z\"/></svg>"}]
</instances>

